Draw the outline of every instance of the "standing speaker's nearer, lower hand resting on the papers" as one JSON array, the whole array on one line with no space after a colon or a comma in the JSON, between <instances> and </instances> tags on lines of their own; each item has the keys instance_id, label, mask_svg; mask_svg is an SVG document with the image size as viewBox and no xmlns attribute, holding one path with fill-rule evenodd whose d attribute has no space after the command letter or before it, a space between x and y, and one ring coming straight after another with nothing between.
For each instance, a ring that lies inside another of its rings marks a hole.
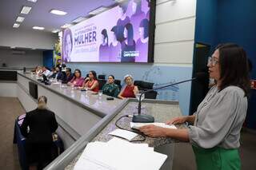
<instances>
[{"instance_id":1,"label":"standing speaker's nearer, lower hand resting on the papers","mask_svg":"<svg viewBox=\"0 0 256 170\"><path fill-rule=\"evenodd\" d=\"M146 125L139 128L139 131L143 132L146 136L150 137L165 137L166 128L158 127L155 125Z\"/></svg>"}]
</instances>

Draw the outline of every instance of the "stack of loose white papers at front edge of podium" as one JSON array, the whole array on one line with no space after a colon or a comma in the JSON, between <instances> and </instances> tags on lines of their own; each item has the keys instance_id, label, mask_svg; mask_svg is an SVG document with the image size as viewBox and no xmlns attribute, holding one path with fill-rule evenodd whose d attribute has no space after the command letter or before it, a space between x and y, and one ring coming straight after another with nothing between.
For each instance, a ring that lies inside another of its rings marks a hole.
<instances>
[{"instance_id":1,"label":"stack of loose white papers at front edge of podium","mask_svg":"<svg viewBox=\"0 0 256 170\"><path fill-rule=\"evenodd\" d=\"M108 142L91 142L82 152L74 170L131 170L161 168L167 156L147 144L132 144L114 137Z\"/></svg>"}]
</instances>

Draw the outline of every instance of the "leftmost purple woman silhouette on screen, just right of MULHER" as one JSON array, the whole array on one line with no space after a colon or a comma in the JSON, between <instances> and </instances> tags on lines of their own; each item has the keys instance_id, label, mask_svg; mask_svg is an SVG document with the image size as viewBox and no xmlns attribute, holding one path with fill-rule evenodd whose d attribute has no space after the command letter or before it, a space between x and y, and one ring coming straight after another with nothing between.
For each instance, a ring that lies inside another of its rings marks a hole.
<instances>
[{"instance_id":1,"label":"leftmost purple woman silhouette on screen, just right of MULHER","mask_svg":"<svg viewBox=\"0 0 256 170\"><path fill-rule=\"evenodd\" d=\"M109 37L106 29L102 30L102 44L99 46L99 61L109 61Z\"/></svg>"}]
</instances>

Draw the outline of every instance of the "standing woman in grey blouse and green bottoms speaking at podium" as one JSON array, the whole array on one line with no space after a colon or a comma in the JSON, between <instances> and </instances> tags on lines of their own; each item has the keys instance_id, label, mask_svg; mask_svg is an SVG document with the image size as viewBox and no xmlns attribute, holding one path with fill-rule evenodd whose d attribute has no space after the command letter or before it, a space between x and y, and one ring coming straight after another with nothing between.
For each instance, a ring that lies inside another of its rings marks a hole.
<instances>
[{"instance_id":1,"label":"standing woman in grey blouse and green bottoms speaking at podium","mask_svg":"<svg viewBox=\"0 0 256 170\"><path fill-rule=\"evenodd\" d=\"M246 118L250 90L246 52L235 44L218 45L209 58L208 67L210 78L214 78L217 84L198 105L197 112L166 122L189 122L192 124L189 128L169 129L148 125L140 130L148 136L190 141L198 170L241 169L238 154L240 130Z\"/></svg>"}]
</instances>

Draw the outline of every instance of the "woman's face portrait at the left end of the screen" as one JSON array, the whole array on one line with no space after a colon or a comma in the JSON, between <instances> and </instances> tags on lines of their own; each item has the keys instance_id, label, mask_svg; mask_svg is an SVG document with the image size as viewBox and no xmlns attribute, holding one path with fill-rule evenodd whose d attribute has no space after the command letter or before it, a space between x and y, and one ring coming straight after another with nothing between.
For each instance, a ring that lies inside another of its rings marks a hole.
<instances>
[{"instance_id":1,"label":"woman's face portrait at the left end of the screen","mask_svg":"<svg viewBox=\"0 0 256 170\"><path fill-rule=\"evenodd\" d=\"M63 38L63 61L70 61L70 54L73 49L73 38L70 29L64 30L64 38Z\"/></svg>"}]
</instances>

